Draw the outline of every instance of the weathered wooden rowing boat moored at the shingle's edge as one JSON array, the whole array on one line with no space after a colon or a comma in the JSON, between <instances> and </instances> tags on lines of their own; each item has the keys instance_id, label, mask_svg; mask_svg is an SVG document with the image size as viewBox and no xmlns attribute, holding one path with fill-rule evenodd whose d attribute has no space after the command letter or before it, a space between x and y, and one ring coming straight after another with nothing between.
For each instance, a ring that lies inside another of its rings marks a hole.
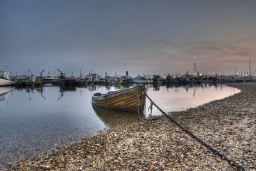
<instances>
[{"instance_id":1,"label":"weathered wooden rowing boat moored at the shingle's edge","mask_svg":"<svg viewBox=\"0 0 256 171\"><path fill-rule=\"evenodd\" d=\"M92 96L92 103L99 107L126 112L139 111L142 114L145 105L145 91L144 85L137 85L107 94L95 93Z\"/></svg>"}]
</instances>

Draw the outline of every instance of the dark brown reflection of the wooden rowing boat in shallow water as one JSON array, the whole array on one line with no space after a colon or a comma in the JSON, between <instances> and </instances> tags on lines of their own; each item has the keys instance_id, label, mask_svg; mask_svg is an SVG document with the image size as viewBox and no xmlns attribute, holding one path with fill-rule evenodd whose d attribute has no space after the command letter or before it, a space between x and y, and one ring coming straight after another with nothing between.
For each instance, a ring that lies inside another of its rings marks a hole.
<instances>
[{"instance_id":1,"label":"dark brown reflection of the wooden rowing boat in shallow water","mask_svg":"<svg viewBox=\"0 0 256 171\"><path fill-rule=\"evenodd\" d=\"M109 127L120 126L128 123L134 123L140 121L138 114L132 112L124 112L118 110L111 110L108 108L102 108L96 105L92 105L95 114ZM143 117L143 116L141 116Z\"/></svg>"}]
</instances>

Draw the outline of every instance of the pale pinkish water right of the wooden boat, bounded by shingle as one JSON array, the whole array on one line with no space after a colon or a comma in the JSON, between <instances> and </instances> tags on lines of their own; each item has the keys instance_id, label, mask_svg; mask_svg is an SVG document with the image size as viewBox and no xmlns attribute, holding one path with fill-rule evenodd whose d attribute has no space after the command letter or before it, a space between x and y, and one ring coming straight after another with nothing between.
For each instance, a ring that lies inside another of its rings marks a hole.
<instances>
[{"instance_id":1,"label":"pale pinkish water right of the wooden boat, bounded by shingle","mask_svg":"<svg viewBox=\"0 0 256 171\"><path fill-rule=\"evenodd\" d=\"M186 110L240 92L224 84L170 84L159 87L155 86L158 85L149 85L147 87L148 95L164 112ZM157 89L157 92L155 89ZM149 105L150 103L147 101L147 107ZM159 115L160 113L156 108L153 108L153 114Z\"/></svg>"}]
</instances>

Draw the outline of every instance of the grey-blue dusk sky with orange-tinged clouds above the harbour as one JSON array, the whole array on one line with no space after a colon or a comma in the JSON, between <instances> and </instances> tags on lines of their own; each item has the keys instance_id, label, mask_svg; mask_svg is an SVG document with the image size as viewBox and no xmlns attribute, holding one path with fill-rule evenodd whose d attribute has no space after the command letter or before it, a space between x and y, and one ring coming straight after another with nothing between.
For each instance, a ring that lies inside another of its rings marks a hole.
<instances>
[{"instance_id":1,"label":"grey-blue dusk sky with orange-tinged clouds above the harbour","mask_svg":"<svg viewBox=\"0 0 256 171\"><path fill-rule=\"evenodd\" d=\"M256 69L256 1L0 0L0 70L124 75Z\"/></svg>"}]
</instances>

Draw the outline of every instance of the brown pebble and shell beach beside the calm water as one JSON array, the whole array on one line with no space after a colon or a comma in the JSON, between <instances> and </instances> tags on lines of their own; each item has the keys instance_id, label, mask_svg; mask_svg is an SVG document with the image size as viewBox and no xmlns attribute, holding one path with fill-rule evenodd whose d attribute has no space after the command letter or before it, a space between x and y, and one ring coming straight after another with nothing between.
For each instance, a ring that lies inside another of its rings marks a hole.
<instances>
[{"instance_id":1,"label":"brown pebble and shell beach beside the calm water","mask_svg":"<svg viewBox=\"0 0 256 171\"><path fill-rule=\"evenodd\" d=\"M256 169L256 82L230 84L241 93L172 117L246 170ZM160 105L161 107L161 105ZM99 131L6 170L232 170L227 161L163 116Z\"/></svg>"}]
</instances>

